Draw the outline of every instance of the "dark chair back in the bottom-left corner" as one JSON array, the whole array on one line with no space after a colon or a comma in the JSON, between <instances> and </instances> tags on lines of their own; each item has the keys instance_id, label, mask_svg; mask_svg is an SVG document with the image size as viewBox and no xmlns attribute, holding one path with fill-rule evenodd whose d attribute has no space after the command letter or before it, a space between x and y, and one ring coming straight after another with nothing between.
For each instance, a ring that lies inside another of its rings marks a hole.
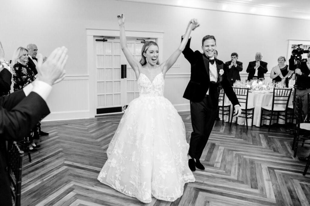
<instances>
[{"instance_id":1,"label":"dark chair back in the bottom-left corner","mask_svg":"<svg viewBox=\"0 0 310 206\"><path fill-rule=\"evenodd\" d=\"M11 193L16 206L20 205L23 156L24 152L20 150L16 142L9 142L8 172L11 180Z\"/></svg>"}]
</instances>

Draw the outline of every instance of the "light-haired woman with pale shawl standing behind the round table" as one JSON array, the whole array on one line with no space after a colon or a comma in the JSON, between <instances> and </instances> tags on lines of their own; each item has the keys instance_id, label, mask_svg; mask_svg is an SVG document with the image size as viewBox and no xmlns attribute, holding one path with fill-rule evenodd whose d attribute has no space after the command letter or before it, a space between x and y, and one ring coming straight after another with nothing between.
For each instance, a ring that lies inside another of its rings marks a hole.
<instances>
[{"instance_id":1,"label":"light-haired woman with pale shawl standing behind the round table","mask_svg":"<svg viewBox=\"0 0 310 206\"><path fill-rule=\"evenodd\" d=\"M288 65L285 64L286 59L284 56L278 58L278 65L272 67L270 72L270 78L276 82L282 82L286 87L289 86L288 77L294 72L290 71Z\"/></svg>"}]
</instances>

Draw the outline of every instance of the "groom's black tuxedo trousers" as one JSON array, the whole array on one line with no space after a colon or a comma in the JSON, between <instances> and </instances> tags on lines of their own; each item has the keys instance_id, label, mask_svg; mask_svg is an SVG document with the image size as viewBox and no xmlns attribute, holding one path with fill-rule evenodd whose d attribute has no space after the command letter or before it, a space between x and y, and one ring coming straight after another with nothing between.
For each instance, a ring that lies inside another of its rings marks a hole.
<instances>
[{"instance_id":1,"label":"groom's black tuxedo trousers","mask_svg":"<svg viewBox=\"0 0 310 206\"><path fill-rule=\"evenodd\" d=\"M199 160L212 131L217 109L210 107L208 95L201 102L191 101L190 109L193 132L188 154Z\"/></svg>"}]
</instances>

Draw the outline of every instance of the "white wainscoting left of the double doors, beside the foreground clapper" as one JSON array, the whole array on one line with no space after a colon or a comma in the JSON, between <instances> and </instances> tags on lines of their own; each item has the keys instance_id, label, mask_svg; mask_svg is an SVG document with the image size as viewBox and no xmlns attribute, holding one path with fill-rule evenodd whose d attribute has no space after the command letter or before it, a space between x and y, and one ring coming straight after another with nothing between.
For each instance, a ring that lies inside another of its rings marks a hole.
<instances>
[{"instance_id":1,"label":"white wainscoting left of the double doors, beside the foreground clapper","mask_svg":"<svg viewBox=\"0 0 310 206\"><path fill-rule=\"evenodd\" d=\"M66 76L47 99L51 113L42 121L90 118L89 76Z\"/></svg>"}]
</instances>

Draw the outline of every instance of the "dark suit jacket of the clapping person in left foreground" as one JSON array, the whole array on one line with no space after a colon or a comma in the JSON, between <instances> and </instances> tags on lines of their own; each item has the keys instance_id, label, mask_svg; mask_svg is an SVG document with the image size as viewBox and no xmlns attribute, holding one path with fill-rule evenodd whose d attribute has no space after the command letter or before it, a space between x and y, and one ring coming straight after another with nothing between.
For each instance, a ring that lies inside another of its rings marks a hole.
<instances>
[{"instance_id":1,"label":"dark suit jacket of the clapping person in left foreground","mask_svg":"<svg viewBox=\"0 0 310 206\"><path fill-rule=\"evenodd\" d=\"M43 117L50 113L40 95L31 92L25 97L18 90L0 97L0 203L12 205L10 181L7 173L6 141L21 140Z\"/></svg>"}]
</instances>

